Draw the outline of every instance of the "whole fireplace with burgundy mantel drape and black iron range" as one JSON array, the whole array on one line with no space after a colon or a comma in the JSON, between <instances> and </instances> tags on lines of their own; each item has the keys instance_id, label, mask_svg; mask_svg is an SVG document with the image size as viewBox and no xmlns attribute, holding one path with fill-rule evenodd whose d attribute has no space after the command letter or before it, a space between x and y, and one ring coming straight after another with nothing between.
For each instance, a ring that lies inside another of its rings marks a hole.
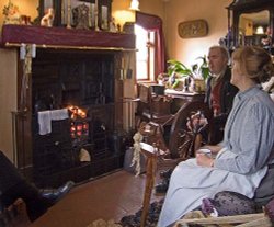
<instances>
[{"instance_id":1,"label":"whole fireplace with burgundy mantel drape and black iron range","mask_svg":"<svg viewBox=\"0 0 274 227\"><path fill-rule=\"evenodd\" d=\"M36 45L27 84L19 58L22 44ZM125 53L134 54L135 36L4 25L1 45L18 54L12 136L22 172L37 185L58 186L67 180L83 182L121 168L126 144L121 70ZM84 117L72 117L69 111L68 117L50 122L50 133L41 135L38 113L68 106L83 111ZM81 150L89 152L91 161L79 160Z\"/></svg>"}]
</instances>

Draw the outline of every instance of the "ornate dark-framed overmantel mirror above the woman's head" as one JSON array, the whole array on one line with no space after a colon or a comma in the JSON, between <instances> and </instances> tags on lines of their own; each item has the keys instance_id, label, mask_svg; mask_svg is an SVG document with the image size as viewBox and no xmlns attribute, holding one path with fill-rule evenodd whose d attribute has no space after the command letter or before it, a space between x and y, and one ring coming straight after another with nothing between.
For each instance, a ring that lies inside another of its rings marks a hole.
<instances>
[{"instance_id":1,"label":"ornate dark-framed overmantel mirror above the woman's head","mask_svg":"<svg viewBox=\"0 0 274 227\"><path fill-rule=\"evenodd\" d=\"M229 49L256 45L274 54L274 0L233 0L227 10Z\"/></svg>"}]
</instances>

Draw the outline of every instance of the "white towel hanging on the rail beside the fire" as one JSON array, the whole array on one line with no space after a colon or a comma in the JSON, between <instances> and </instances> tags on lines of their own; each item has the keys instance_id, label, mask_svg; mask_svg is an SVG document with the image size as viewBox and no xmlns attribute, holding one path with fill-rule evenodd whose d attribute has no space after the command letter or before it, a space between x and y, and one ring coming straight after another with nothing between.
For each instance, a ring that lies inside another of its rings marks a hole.
<instances>
[{"instance_id":1,"label":"white towel hanging on the rail beside the fire","mask_svg":"<svg viewBox=\"0 0 274 227\"><path fill-rule=\"evenodd\" d=\"M38 112L39 135L52 133L52 121L66 120L68 117L67 109Z\"/></svg>"}]
</instances>

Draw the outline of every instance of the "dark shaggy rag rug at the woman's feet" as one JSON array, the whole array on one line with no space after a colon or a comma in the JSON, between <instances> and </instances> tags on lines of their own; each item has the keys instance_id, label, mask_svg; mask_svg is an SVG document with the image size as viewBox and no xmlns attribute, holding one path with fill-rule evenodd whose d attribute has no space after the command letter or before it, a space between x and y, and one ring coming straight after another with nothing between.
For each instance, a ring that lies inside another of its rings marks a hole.
<instances>
[{"instance_id":1,"label":"dark shaggy rag rug at the woman's feet","mask_svg":"<svg viewBox=\"0 0 274 227\"><path fill-rule=\"evenodd\" d=\"M163 198L159 202L153 202L149 206L148 217L146 222L146 227L156 227L157 222L159 219L159 215L162 208ZM123 227L139 227L140 226L140 217L142 209L139 209L135 213L135 215L128 215L121 219L119 225Z\"/></svg>"}]
</instances>

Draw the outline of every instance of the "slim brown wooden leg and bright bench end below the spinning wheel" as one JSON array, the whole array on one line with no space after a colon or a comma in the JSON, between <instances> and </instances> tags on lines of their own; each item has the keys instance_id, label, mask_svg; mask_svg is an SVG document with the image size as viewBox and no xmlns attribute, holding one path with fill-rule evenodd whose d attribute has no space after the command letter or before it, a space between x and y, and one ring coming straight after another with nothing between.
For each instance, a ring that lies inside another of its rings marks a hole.
<instances>
[{"instance_id":1,"label":"slim brown wooden leg and bright bench end below the spinning wheel","mask_svg":"<svg viewBox=\"0 0 274 227\"><path fill-rule=\"evenodd\" d=\"M146 189L142 197L142 212L140 219L140 227L146 227L146 219L148 216L151 193L155 186L156 171L157 171L157 148L146 143L140 143L141 154L146 157Z\"/></svg>"}]
</instances>

